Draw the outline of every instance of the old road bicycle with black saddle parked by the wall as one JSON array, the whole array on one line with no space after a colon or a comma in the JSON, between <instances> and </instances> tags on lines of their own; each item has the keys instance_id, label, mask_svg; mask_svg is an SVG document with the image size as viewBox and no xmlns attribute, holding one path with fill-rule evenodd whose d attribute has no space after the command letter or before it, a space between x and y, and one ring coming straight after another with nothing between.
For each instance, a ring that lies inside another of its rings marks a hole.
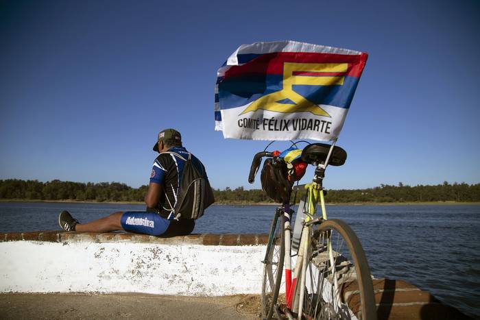
<instances>
[{"instance_id":1,"label":"old road bicycle with black saddle parked by the wall","mask_svg":"<svg viewBox=\"0 0 480 320\"><path fill-rule=\"evenodd\" d=\"M276 208L262 261L263 319L271 319L274 313L278 319L284 315L289 319L376 319L372 277L361 243L344 221L326 217L322 184L325 169L328 164L341 166L346 156L346 151L335 143L313 143L302 150L302 160L315 166L315 175L305 185L306 193L298 205L293 233L301 230L300 237L297 234L291 238L290 195ZM263 157L282 161L272 152L256 153L250 183L254 182ZM318 202L322 217L315 217ZM292 256L292 249L296 248L298 251ZM279 299L284 264L285 297Z\"/></svg>"}]
</instances>

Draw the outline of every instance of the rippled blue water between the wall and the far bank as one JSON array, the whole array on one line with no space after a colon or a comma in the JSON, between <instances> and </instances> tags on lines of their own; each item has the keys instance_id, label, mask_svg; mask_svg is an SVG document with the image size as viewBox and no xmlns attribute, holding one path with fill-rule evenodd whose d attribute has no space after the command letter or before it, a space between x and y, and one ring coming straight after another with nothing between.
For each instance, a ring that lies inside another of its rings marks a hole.
<instances>
[{"instance_id":1,"label":"rippled blue water between the wall and the far bank","mask_svg":"<svg viewBox=\"0 0 480 320\"><path fill-rule=\"evenodd\" d=\"M0 232L59 230L58 213L80 222L143 205L0 203ZM266 233L275 206L211 206L195 233ZM359 236L372 274L400 278L480 317L480 206L329 206ZM294 220L293 220L294 221Z\"/></svg>"}]
</instances>

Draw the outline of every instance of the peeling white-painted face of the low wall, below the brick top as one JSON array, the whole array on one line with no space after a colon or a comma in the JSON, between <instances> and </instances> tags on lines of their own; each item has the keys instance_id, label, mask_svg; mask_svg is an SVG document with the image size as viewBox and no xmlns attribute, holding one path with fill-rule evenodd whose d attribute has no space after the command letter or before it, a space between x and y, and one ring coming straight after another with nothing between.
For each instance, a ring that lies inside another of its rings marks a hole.
<instances>
[{"instance_id":1,"label":"peeling white-painted face of the low wall, below the brick top","mask_svg":"<svg viewBox=\"0 0 480 320\"><path fill-rule=\"evenodd\" d=\"M0 243L0 292L261 293L265 245Z\"/></svg>"}]
</instances>

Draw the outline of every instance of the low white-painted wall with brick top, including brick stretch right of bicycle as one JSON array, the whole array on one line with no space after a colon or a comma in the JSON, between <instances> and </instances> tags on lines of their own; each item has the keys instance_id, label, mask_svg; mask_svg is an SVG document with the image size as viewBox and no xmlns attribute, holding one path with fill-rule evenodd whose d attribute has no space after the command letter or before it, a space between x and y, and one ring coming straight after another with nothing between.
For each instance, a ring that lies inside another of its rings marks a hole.
<instances>
[{"instance_id":1,"label":"low white-painted wall with brick top, including brick stretch right of bicycle","mask_svg":"<svg viewBox=\"0 0 480 320\"><path fill-rule=\"evenodd\" d=\"M261 293L266 235L0 234L0 293ZM373 257L374 258L374 257ZM358 290L344 286L350 310ZM378 319L468 319L403 280L376 279Z\"/></svg>"}]
</instances>

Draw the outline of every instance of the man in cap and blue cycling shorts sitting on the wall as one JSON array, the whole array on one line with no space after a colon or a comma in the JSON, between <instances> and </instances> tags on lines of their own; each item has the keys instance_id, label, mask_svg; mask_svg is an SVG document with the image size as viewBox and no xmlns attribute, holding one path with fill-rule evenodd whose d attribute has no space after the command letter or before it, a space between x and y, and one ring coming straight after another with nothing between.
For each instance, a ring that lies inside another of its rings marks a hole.
<instances>
[{"instance_id":1,"label":"man in cap and blue cycling shorts sitting on the wall","mask_svg":"<svg viewBox=\"0 0 480 320\"><path fill-rule=\"evenodd\" d=\"M158 134L154 151L160 153L152 168L150 183L145 196L146 211L115 212L108 217L88 223L79 223L68 211L62 211L58 217L60 227L65 231L112 232L125 230L151 236L180 236L191 234L195 227L193 219L174 219L175 208L185 160L189 152L182 147L180 132L166 129ZM168 153L165 153L169 151ZM203 173L208 182L205 167L191 155L195 169ZM210 188L206 183L205 188ZM208 190L210 191L210 190ZM203 210L203 208L202 208ZM202 211L203 212L203 211Z\"/></svg>"}]
</instances>

